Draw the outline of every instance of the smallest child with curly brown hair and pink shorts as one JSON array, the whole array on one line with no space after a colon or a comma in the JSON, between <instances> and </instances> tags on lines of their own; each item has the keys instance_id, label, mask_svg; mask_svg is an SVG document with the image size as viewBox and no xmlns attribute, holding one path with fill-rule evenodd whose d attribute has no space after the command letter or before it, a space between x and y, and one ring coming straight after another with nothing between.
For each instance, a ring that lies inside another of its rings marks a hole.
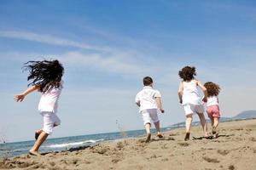
<instances>
[{"instance_id":1,"label":"smallest child with curly brown hair and pink shorts","mask_svg":"<svg viewBox=\"0 0 256 170\"><path fill-rule=\"evenodd\" d=\"M220 117L219 108L218 108L218 94L220 88L218 84L214 82L206 82L204 84L207 88L207 114L212 122L212 136L213 138L218 138L218 133L216 132L218 127L218 119Z\"/></svg>"}]
</instances>

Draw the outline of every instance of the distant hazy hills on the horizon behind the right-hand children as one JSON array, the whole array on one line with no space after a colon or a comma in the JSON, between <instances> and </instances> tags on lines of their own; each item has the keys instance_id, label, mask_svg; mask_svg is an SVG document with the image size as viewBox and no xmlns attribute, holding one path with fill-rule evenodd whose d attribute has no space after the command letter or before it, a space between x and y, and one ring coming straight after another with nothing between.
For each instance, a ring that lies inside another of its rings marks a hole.
<instances>
[{"instance_id":1,"label":"distant hazy hills on the horizon behind the right-hand children","mask_svg":"<svg viewBox=\"0 0 256 170\"><path fill-rule=\"evenodd\" d=\"M244 119L252 119L252 118L256 118L255 110L242 111L241 113L233 117L221 117L220 122L230 122L235 120L244 120ZM210 120L207 119L207 122L210 122ZM192 122L192 126L198 125L199 123L200 122ZM172 124L170 127L185 127L185 122L178 122L176 124Z\"/></svg>"}]
</instances>

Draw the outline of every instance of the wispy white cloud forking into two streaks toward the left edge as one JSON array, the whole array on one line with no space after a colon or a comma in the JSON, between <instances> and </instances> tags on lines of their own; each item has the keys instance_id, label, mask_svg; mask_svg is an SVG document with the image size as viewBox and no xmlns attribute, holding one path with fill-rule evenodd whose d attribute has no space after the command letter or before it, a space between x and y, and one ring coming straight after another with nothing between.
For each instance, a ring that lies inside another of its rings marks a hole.
<instances>
[{"instance_id":1,"label":"wispy white cloud forking into two streaks toward the left edge","mask_svg":"<svg viewBox=\"0 0 256 170\"><path fill-rule=\"evenodd\" d=\"M91 46L84 42L76 42L62 37L55 37L48 34L38 34L30 31L0 31L0 37L21 39L32 42L42 42L51 45L68 46L82 49L90 49L82 53L79 51L67 52L64 54L36 54L11 52L0 54L2 59L14 59L26 61L32 59L61 59L66 65L82 65L92 67L101 71L108 71L116 74L125 74L126 76L154 73L154 59L150 55L143 54L134 48L108 48ZM3 57L2 57L3 56Z\"/></svg>"}]
</instances>

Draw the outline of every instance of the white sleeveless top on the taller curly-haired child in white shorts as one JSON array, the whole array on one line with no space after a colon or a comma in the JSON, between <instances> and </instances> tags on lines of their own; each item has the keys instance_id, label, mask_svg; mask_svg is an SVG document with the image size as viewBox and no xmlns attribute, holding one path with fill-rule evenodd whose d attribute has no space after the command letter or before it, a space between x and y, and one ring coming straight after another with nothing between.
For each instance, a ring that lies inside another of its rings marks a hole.
<instances>
[{"instance_id":1,"label":"white sleeveless top on the taller curly-haired child in white shorts","mask_svg":"<svg viewBox=\"0 0 256 170\"><path fill-rule=\"evenodd\" d=\"M183 82L183 103L182 105L201 105L199 90L195 80Z\"/></svg>"}]
</instances>

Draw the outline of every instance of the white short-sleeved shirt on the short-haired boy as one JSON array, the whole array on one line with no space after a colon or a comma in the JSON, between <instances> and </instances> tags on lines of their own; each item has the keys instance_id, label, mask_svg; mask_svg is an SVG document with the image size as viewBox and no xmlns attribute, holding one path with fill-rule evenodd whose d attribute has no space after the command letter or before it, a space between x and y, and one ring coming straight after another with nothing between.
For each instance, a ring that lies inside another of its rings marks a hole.
<instances>
[{"instance_id":1,"label":"white short-sleeved shirt on the short-haired boy","mask_svg":"<svg viewBox=\"0 0 256 170\"><path fill-rule=\"evenodd\" d=\"M136 98L135 102L140 104L140 111L145 111L148 109L157 109L155 98L160 98L161 94L158 90L154 90L150 86L144 86Z\"/></svg>"}]
</instances>

